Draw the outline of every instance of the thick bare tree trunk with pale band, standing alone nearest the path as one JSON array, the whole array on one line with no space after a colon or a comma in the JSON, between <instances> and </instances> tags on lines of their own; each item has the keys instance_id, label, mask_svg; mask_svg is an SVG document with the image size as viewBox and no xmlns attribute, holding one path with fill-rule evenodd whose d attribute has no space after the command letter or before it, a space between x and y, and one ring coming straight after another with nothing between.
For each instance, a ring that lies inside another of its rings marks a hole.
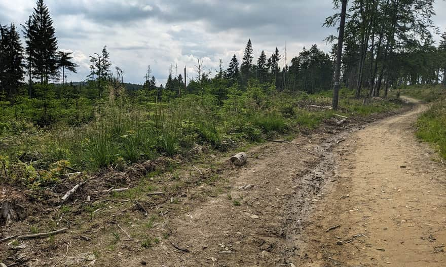
<instances>
[{"instance_id":1,"label":"thick bare tree trunk with pale band, standing alone nearest the path","mask_svg":"<svg viewBox=\"0 0 446 267\"><path fill-rule=\"evenodd\" d=\"M342 0L341 23L339 25L338 36L338 52L336 53L336 67L334 69L334 85L333 85L333 109L338 109L339 90L341 88L341 60L342 46L344 43L345 16L347 12L347 0Z\"/></svg>"}]
</instances>

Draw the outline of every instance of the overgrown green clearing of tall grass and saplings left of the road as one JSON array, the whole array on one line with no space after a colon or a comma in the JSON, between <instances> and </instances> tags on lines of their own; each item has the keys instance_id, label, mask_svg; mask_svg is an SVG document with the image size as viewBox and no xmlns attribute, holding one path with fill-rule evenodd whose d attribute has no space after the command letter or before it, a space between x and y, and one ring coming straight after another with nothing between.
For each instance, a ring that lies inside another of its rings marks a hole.
<instances>
[{"instance_id":1,"label":"overgrown green clearing of tall grass and saplings left of the road","mask_svg":"<svg viewBox=\"0 0 446 267\"><path fill-rule=\"evenodd\" d=\"M64 173L124 170L160 156L194 160L191 150L229 151L263 142L262 137L292 137L332 118L331 92L272 93L258 85L234 91L224 103L212 95L186 95L168 104L135 104L112 96L95 107L90 123L48 129L11 118L0 134L0 181L26 188L49 188ZM365 117L400 107L377 100L363 105L342 90L341 110L348 117ZM174 168L174 167L171 167ZM60 193L60 192L57 192Z\"/></svg>"}]
</instances>

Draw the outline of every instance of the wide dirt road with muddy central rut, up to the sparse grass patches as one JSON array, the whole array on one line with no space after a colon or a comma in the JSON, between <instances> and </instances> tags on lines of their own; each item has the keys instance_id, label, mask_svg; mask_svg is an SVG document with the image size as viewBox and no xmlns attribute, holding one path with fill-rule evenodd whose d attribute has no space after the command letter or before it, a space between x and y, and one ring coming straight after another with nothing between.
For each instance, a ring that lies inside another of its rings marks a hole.
<instances>
[{"instance_id":1,"label":"wide dirt road with muddy central rut, up to the sparse grass patches","mask_svg":"<svg viewBox=\"0 0 446 267\"><path fill-rule=\"evenodd\" d=\"M168 241L122 262L444 266L446 167L414 137L423 108L334 137L251 150L256 159L221 174L227 192L184 203L169 219ZM331 226L338 227L326 232Z\"/></svg>"}]
</instances>

